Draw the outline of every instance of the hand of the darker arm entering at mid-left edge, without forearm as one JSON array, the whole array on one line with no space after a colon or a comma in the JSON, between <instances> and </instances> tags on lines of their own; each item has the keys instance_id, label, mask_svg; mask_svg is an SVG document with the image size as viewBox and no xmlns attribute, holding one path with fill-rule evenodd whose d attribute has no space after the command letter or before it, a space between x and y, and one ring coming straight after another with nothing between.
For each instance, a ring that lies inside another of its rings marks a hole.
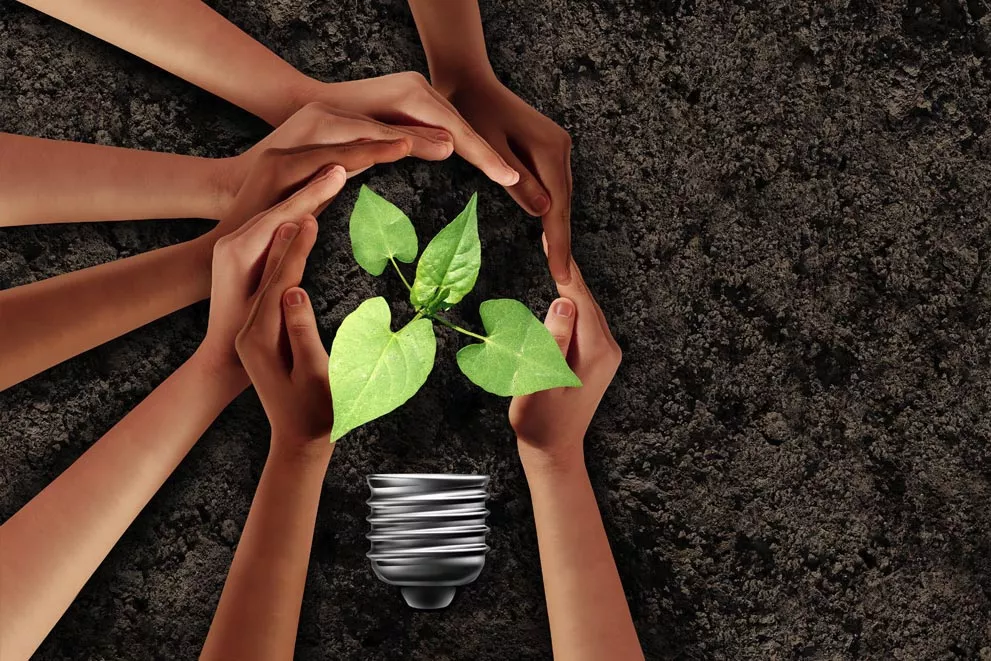
<instances>
[{"instance_id":1,"label":"hand of the darker arm entering at mid-left edge, without forearm","mask_svg":"<svg viewBox=\"0 0 991 661\"><path fill-rule=\"evenodd\" d=\"M245 175L237 197L212 235L220 238L237 230L259 212L291 195L325 168L340 165L353 172L376 163L391 163L407 156L410 145L410 138L401 137L342 145L307 144L288 149L267 147L253 156L251 169ZM312 213L319 214L321 210L315 209Z\"/></svg>"}]
</instances>

